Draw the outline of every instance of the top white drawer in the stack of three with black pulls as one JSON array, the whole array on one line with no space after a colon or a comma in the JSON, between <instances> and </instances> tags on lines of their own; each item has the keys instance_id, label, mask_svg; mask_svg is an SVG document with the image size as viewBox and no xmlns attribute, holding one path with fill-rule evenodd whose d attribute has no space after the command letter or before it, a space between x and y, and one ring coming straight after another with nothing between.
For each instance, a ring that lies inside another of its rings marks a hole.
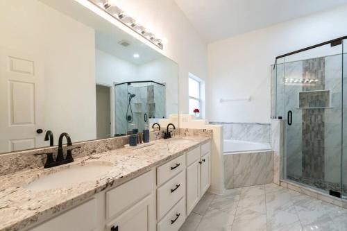
<instances>
[{"instance_id":1,"label":"top white drawer in the stack of three with black pulls","mask_svg":"<svg viewBox=\"0 0 347 231\"><path fill-rule=\"evenodd\" d=\"M185 155L181 155L170 162L163 164L157 169L158 186L162 185L167 180L176 176L180 171L185 169Z\"/></svg>"}]
</instances>

